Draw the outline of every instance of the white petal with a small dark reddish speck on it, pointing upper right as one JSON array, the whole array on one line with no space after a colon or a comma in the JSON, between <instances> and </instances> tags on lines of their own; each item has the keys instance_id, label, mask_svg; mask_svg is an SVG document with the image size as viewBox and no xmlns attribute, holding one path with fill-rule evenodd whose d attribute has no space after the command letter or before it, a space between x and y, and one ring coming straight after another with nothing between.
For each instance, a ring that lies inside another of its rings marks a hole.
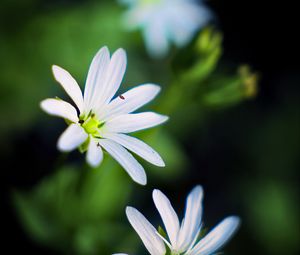
<instances>
[{"instance_id":1,"label":"white petal with a small dark reddish speck on it, pointing upper right","mask_svg":"<svg viewBox=\"0 0 300 255\"><path fill-rule=\"evenodd\" d=\"M121 114L131 113L153 100L160 92L160 87L154 84L137 86L120 97L116 97L105 108L99 118L103 121Z\"/></svg>"}]
</instances>

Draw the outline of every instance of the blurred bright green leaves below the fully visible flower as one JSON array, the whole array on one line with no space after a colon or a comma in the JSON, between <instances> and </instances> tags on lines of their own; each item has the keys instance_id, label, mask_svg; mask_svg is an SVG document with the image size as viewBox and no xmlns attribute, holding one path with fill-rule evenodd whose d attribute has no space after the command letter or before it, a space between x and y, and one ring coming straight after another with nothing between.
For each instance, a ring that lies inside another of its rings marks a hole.
<instances>
[{"instance_id":1,"label":"blurred bright green leaves below the fully visible flower","mask_svg":"<svg viewBox=\"0 0 300 255\"><path fill-rule=\"evenodd\" d=\"M122 250L132 233L120 222L131 180L109 157L101 169L79 170L63 167L32 191L14 193L25 229L41 244L70 254Z\"/></svg>"}]
</instances>

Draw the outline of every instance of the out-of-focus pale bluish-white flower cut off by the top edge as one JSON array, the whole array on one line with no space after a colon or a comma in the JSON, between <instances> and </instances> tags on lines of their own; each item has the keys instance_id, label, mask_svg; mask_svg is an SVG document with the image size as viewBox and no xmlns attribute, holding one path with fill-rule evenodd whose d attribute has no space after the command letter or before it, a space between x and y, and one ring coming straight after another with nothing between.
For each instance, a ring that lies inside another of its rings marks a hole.
<instances>
[{"instance_id":1,"label":"out-of-focus pale bluish-white flower cut off by the top edge","mask_svg":"<svg viewBox=\"0 0 300 255\"><path fill-rule=\"evenodd\" d=\"M142 30L146 47L154 57L166 55L171 43L185 46L212 16L204 4L196 0L119 1L128 6L127 27Z\"/></svg>"}]
</instances>

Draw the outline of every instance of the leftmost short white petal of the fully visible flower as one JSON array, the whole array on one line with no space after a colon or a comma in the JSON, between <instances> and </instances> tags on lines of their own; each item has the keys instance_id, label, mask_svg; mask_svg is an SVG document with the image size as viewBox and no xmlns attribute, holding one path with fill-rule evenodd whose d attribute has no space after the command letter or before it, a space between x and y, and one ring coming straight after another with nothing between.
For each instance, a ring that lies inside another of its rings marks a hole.
<instances>
[{"instance_id":1,"label":"leftmost short white petal of the fully visible flower","mask_svg":"<svg viewBox=\"0 0 300 255\"><path fill-rule=\"evenodd\" d=\"M50 115L62 117L72 122L78 122L77 111L69 103L58 99L45 99L41 102L41 108Z\"/></svg>"}]
</instances>

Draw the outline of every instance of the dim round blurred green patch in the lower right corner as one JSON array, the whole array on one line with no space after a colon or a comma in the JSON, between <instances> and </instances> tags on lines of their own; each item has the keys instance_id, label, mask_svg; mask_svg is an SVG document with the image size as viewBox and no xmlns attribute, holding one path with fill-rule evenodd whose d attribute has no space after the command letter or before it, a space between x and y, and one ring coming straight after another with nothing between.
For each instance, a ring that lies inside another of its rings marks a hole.
<instances>
[{"instance_id":1,"label":"dim round blurred green patch in the lower right corner","mask_svg":"<svg viewBox=\"0 0 300 255\"><path fill-rule=\"evenodd\" d=\"M284 254L286 251L296 254L300 237L296 190L276 181L257 183L255 188L253 185L249 188L248 217L255 223L249 226L256 232L261 245L270 254Z\"/></svg>"}]
</instances>

